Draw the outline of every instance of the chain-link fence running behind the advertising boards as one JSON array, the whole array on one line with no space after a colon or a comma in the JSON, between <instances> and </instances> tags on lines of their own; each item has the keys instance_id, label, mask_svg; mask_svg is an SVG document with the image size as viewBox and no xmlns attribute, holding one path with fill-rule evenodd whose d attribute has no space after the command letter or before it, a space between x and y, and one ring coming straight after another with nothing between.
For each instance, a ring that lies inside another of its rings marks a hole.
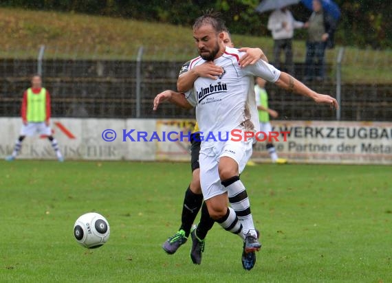
<instances>
[{"instance_id":1,"label":"chain-link fence running behind the advertising boards","mask_svg":"<svg viewBox=\"0 0 392 283\"><path fill-rule=\"evenodd\" d=\"M264 52L272 54L272 50ZM0 56L1 116L19 115L23 90L29 87L32 73L41 71L56 117L194 117L193 111L171 104L162 104L159 111L152 111L157 93L176 89L182 64L197 56L194 48L140 47L118 54L111 49L46 46L34 52L3 50ZM301 80L305 68L303 50L294 53L294 58L295 76ZM266 87L270 106L287 120L391 120L391 64L390 51L330 50L326 54L325 80L307 84L321 93L340 93L338 117L335 111L273 84Z\"/></svg>"}]
</instances>

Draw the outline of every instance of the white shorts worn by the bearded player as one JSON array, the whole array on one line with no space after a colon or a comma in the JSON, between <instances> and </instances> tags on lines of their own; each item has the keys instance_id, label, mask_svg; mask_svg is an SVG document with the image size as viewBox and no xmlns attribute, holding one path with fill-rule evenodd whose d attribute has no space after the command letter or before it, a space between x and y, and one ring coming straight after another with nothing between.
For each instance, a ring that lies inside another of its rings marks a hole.
<instances>
[{"instance_id":1,"label":"white shorts worn by the bearded player","mask_svg":"<svg viewBox=\"0 0 392 283\"><path fill-rule=\"evenodd\" d=\"M204 200L224 194L227 189L221 184L218 166L221 157L230 157L238 163L239 174L252 156L252 139L249 141L221 141L214 147L202 148L199 154L200 184Z\"/></svg>"}]
</instances>

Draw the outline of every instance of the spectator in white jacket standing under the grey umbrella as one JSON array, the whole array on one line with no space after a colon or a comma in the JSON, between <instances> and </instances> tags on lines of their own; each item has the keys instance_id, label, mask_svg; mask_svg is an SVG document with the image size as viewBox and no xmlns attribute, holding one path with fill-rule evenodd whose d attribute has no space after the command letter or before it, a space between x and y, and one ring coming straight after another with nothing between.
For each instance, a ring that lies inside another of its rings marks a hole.
<instances>
[{"instance_id":1,"label":"spectator in white jacket standing under the grey umbrella","mask_svg":"<svg viewBox=\"0 0 392 283\"><path fill-rule=\"evenodd\" d=\"M294 29L303 27L304 23L296 21L292 12L285 8L274 10L268 19L268 30L274 38L274 66L294 74L292 38ZM285 68L281 66L281 50L285 50Z\"/></svg>"}]
</instances>

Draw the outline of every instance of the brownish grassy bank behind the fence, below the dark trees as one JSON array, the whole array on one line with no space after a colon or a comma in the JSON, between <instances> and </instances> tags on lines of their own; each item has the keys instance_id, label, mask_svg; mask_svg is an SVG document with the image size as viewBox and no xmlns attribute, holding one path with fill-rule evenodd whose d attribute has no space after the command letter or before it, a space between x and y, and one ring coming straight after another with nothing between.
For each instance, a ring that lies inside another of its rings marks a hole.
<instances>
[{"instance_id":1,"label":"brownish grassy bank behind the fence, below the dark trees","mask_svg":"<svg viewBox=\"0 0 392 283\"><path fill-rule=\"evenodd\" d=\"M177 60L196 56L190 27L143 21L0 8L0 58L36 58L39 45L45 57L135 60L144 46L144 60ZM233 34L238 47L261 47L272 60L270 36ZM338 47L327 50L327 62L336 69ZM294 60L305 61L305 43L294 42ZM392 51L348 47L342 62L343 82L391 83ZM334 76L334 72L331 74Z\"/></svg>"}]
</instances>

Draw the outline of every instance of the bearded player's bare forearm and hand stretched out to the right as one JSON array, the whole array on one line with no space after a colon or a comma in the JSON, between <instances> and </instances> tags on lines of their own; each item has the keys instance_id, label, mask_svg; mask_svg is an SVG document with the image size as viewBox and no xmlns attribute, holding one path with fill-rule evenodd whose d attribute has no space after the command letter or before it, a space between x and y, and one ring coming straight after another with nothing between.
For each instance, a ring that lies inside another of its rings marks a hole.
<instances>
[{"instance_id":1,"label":"bearded player's bare forearm and hand stretched out to the right","mask_svg":"<svg viewBox=\"0 0 392 283\"><path fill-rule=\"evenodd\" d=\"M339 107L338 102L336 101L335 98L332 98L329 95L316 93L316 91L312 91L312 89L309 89L309 87L307 87L299 80L296 80L288 73L281 72L281 76L279 76L279 79L276 80L275 84L278 87L281 87L282 89L287 89L287 91L291 91L294 93L307 96L308 98L312 98L312 100L314 100L314 102L316 103L329 104L331 108L335 108L335 109L338 109Z\"/></svg>"}]
</instances>

